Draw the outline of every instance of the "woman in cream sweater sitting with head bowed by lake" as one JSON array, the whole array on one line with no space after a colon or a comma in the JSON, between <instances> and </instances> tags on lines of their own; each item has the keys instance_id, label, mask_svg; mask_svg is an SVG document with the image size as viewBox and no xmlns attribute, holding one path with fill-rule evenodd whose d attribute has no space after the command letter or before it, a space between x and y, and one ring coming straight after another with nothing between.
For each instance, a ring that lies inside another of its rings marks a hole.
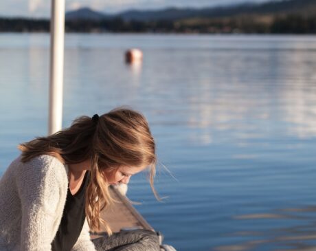
<instances>
[{"instance_id":1,"label":"woman in cream sweater sitting with head bowed by lake","mask_svg":"<svg viewBox=\"0 0 316 251\"><path fill-rule=\"evenodd\" d=\"M155 142L148 122L131 109L82 116L68 129L20 144L20 157L0 180L0 250L159 250L155 233L112 234L100 210L110 184L127 184L149 168ZM109 237L91 241L104 226Z\"/></svg>"}]
</instances>

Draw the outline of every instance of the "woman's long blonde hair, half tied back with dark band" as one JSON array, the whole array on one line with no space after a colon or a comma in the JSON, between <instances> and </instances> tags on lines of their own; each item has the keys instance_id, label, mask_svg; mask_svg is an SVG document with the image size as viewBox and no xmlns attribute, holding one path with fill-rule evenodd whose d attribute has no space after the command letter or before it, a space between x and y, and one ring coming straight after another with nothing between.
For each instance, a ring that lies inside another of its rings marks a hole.
<instances>
[{"instance_id":1,"label":"woman's long blonde hair, half tied back with dark band","mask_svg":"<svg viewBox=\"0 0 316 251\"><path fill-rule=\"evenodd\" d=\"M85 211L92 230L103 225L111 234L109 225L100 217L100 211L113 203L109 183L104 173L120 166L148 166L150 186L154 188L155 141L146 118L133 109L120 107L93 120L81 116L71 127L47 137L20 144L22 161L38 155L52 155L64 164L91 160L90 181L86 190Z\"/></svg>"}]
</instances>

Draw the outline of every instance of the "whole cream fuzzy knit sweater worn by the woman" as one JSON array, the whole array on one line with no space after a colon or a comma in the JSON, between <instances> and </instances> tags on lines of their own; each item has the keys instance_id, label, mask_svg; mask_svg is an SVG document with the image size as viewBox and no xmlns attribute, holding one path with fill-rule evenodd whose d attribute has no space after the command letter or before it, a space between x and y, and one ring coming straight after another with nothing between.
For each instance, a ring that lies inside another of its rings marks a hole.
<instances>
[{"instance_id":1,"label":"whole cream fuzzy knit sweater worn by the woman","mask_svg":"<svg viewBox=\"0 0 316 251\"><path fill-rule=\"evenodd\" d=\"M52 250L67 197L67 166L49 155L20 160L0 179L0 250ZM72 251L95 251L87 220Z\"/></svg>"}]
</instances>

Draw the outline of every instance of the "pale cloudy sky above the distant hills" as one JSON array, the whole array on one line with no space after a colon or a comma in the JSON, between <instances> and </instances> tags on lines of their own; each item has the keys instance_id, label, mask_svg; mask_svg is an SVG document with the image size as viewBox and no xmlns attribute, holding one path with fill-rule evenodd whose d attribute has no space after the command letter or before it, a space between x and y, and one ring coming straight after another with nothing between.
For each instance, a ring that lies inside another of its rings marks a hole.
<instances>
[{"instance_id":1,"label":"pale cloudy sky above the distant hills","mask_svg":"<svg viewBox=\"0 0 316 251\"><path fill-rule=\"evenodd\" d=\"M66 10L89 7L106 13L117 13L128 9L155 10L167 7L223 6L244 2L268 0L65 0ZM0 0L0 17L49 17L50 0Z\"/></svg>"}]
</instances>

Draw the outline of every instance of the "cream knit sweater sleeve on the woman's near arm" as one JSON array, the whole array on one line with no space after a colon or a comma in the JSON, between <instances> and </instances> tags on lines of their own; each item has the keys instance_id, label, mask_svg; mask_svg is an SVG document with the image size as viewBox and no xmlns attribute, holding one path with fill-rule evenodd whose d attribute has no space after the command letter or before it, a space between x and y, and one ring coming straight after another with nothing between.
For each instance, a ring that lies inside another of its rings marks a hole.
<instances>
[{"instance_id":1,"label":"cream knit sweater sleeve on the woman's near arm","mask_svg":"<svg viewBox=\"0 0 316 251\"><path fill-rule=\"evenodd\" d=\"M67 180L65 184L58 176L60 165L52 157L34 158L16 175L22 208L21 251L52 250L63 214L65 185L67 189Z\"/></svg>"}]
</instances>

